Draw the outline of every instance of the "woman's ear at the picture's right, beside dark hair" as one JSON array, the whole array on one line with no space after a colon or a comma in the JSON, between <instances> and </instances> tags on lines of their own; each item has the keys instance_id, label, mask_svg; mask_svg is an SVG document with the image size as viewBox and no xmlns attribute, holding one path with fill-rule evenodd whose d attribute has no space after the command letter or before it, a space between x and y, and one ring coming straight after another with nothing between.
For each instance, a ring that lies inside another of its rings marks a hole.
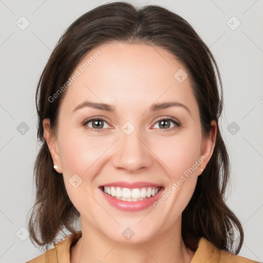
<instances>
[{"instance_id":1,"label":"woman's ear at the picture's right, beside dark hair","mask_svg":"<svg viewBox=\"0 0 263 263\"><path fill-rule=\"evenodd\" d=\"M201 169L204 170L205 166L208 164L211 159L214 147L216 144L216 133L217 133L217 124L215 120L211 121L211 130L208 137L205 137L202 141L200 159L203 160L202 164L199 166L198 175L202 173Z\"/></svg>"}]
</instances>

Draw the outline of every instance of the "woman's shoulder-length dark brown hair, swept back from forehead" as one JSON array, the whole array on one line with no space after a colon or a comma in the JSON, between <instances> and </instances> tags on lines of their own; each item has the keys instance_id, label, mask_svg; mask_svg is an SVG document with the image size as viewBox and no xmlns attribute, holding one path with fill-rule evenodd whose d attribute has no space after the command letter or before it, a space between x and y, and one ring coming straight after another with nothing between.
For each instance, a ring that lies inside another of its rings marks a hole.
<instances>
[{"instance_id":1,"label":"woman's shoulder-length dark brown hair, swept back from forehead","mask_svg":"<svg viewBox=\"0 0 263 263\"><path fill-rule=\"evenodd\" d=\"M53 245L60 231L76 232L74 222L80 213L71 203L63 181L53 170L53 161L43 137L43 120L57 125L63 92L58 92L84 55L100 44L112 41L161 47L174 55L190 76L198 103L203 136L218 124L222 111L222 83L216 61L192 26L181 16L157 5L141 8L115 2L96 7L74 21L61 36L41 74L36 91L37 138L43 142L34 165L36 199L28 228L37 245ZM219 249L238 253L243 242L241 223L225 203L229 179L229 157L218 127L213 155L198 177L195 192L182 213L182 237L185 245L196 250L198 239L205 237ZM234 248L229 237L232 227L239 239ZM39 237L37 236L39 234Z\"/></svg>"}]
</instances>

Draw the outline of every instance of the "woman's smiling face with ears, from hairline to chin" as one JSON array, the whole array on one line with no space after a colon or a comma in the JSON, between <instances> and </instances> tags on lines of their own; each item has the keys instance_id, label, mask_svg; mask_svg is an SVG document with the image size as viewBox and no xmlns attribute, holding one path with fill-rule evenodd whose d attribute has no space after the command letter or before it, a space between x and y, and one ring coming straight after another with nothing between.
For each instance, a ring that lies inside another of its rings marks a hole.
<instances>
[{"instance_id":1,"label":"woman's smiling face with ears, from hairline to chin","mask_svg":"<svg viewBox=\"0 0 263 263\"><path fill-rule=\"evenodd\" d=\"M73 74L56 136L47 119L44 127L82 228L118 242L178 230L214 147L202 137L186 69L160 47L111 43Z\"/></svg>"}]
</instances>

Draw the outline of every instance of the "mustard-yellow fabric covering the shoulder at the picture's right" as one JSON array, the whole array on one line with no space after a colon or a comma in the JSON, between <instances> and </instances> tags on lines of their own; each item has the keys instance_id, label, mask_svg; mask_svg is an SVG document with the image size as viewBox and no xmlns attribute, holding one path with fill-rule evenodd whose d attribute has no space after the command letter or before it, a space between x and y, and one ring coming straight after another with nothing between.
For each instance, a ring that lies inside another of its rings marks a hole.
<instances>
[{"instance_id":1,"label":"mustard-yellow fabric covering the shoulder at the picture's right","mask_svg":"<svg viewBox=\"0 0 263 263\"><path fill-rule=\"evenodd\" d=\"M213 243L201 237L198 248L191 263L258 263L245 257L241 257L228 251L218 249Z\"/></svg>"}]
</instances>

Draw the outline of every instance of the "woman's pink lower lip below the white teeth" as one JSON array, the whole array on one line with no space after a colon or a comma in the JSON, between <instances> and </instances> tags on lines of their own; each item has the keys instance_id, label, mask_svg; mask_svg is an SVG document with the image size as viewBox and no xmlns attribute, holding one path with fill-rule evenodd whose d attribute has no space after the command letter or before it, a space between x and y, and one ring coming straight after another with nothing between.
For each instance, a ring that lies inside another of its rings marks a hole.
<instances>
[{"instance_id":1,"label":"woman's pink lower lip below the white teeth","mask_svg":"<svg viewBox=\"0 0 263 263\"><path fill-rule=\"evenodd\" d=\"M103 193L103 196L106 198L106 200L115 208L122 211L134 212L134 211L144 210L149 206L151 206L155 201L157 201L160 198L161 193L163 192L163 187L159 190L159 192L155 196L149 197L141 201L122 201L104 193L102 189L101 192Z\"/></svg>"}]
</instances>

